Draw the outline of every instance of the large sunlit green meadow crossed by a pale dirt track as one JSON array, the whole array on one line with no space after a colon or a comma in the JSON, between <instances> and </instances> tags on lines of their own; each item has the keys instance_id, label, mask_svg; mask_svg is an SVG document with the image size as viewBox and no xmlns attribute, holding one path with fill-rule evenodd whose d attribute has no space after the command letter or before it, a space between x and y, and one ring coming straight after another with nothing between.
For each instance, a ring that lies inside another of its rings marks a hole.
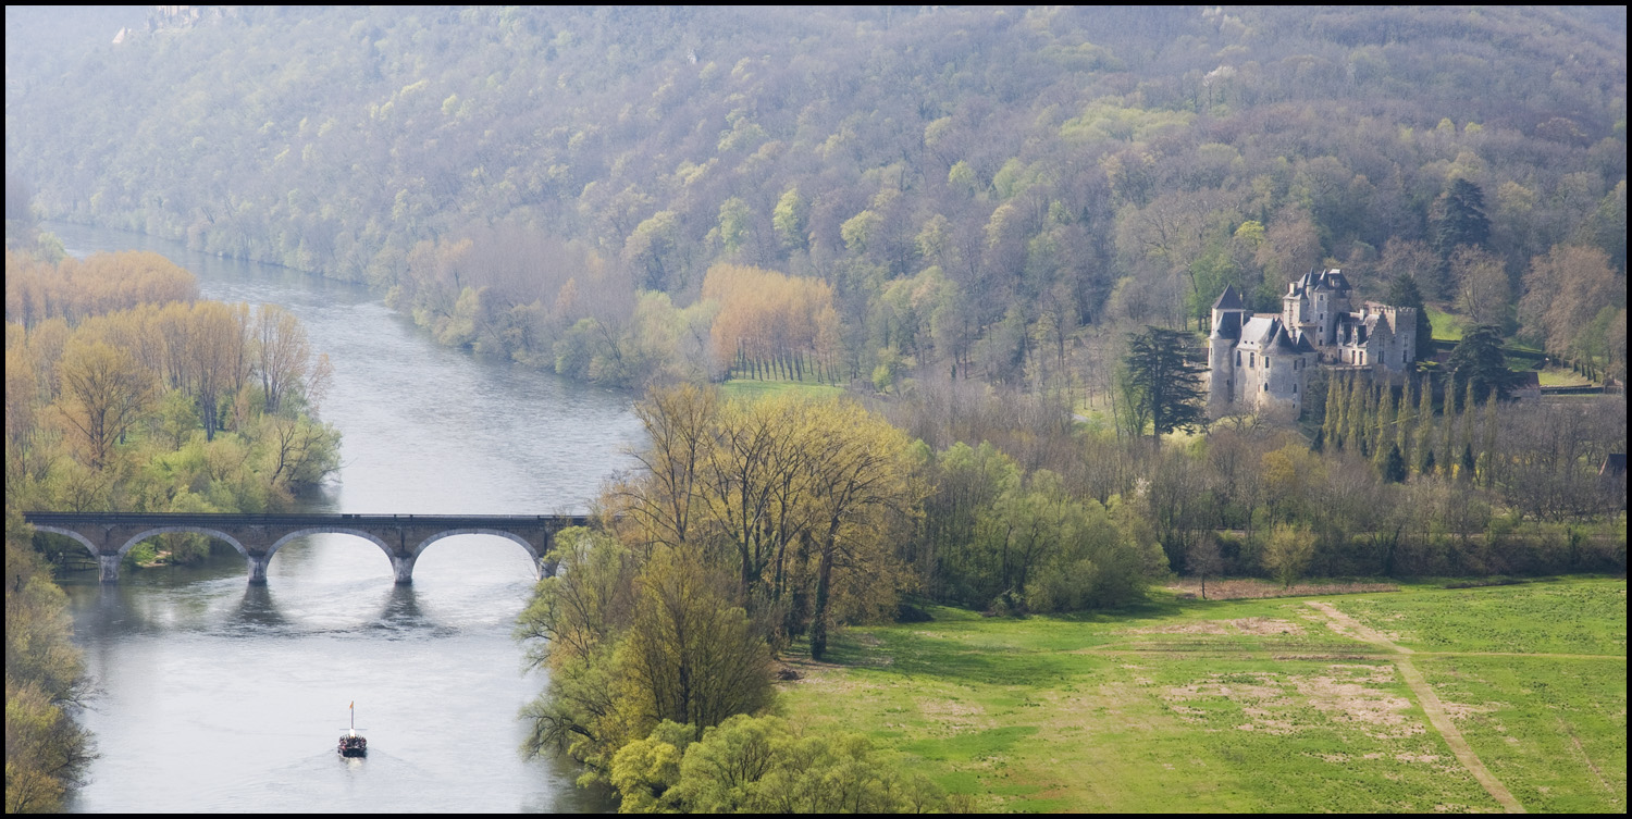
<instances>
[{"instance_id":1,"label":"large sunlit green meadow crossed by a pale dirt track","mask_svg":"<svg viewBox=\"0 0 1632 819\"><path fill-rule=\"evenodd\" d=\"M831 664L796 664L783 703L868 733L976 809L1500 811L1412 664L1518 804L1625 806L1622 579L932 612L849 630Z\"/></svg>"}]
</instances>

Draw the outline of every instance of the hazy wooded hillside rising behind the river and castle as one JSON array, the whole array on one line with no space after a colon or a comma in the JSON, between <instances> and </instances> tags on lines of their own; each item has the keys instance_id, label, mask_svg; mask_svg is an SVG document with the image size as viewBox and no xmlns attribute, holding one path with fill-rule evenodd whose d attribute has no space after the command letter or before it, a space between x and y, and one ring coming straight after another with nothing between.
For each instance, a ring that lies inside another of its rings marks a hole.
<instances>
[{"instance_id":1,"label":"hazy wooded hillside rising behind the river and castle","mask_svg":"<svg viewBox=\"0 0 1632 819\"><path fill-rule=\"evenodd\" d=\"M1624 370L1614 10L180 8L95 46L7 11L42 215L369 281L574 375L1041 383L1079 328L1322 263ZM821 279L837 330L710 338L721 263Z\"/></svg>"}]
</instances>

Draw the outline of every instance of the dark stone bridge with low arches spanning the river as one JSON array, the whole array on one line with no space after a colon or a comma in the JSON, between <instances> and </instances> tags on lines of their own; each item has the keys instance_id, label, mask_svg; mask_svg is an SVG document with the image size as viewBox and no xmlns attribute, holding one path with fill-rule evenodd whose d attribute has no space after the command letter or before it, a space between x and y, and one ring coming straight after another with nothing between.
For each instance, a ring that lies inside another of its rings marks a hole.
<instances>
[{"instance_id":1,"label":"dark stone bridge with low arches spanning the river","mask_svg":"<svg viewBox=\"0 0 1632 819\"><path fill-rule=\"evenodd\" d=\"M540 578L555 574L547 560L555 533L586 525L583 516L395 516L395 514L168 514L168 512L23 512L39 532L78 540L101 564L101 581L118 582L119 561L131 547L166 532L225 540L250 563L250 582L266 582L266 564L284 543L304 535L361 537L392 560L397 582L413 582L413 563L437 540L452 535L498 535L532 556Z\"/></svg>"}]
</instances>

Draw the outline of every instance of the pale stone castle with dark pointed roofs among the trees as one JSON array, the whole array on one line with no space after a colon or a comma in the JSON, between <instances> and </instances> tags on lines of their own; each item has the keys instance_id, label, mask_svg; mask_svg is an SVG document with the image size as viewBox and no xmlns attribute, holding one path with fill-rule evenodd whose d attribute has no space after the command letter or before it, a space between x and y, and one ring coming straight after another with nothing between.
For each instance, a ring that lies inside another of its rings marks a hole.
<instances>
[{"instance_id":1,"label":"pale stone castle with dark pointed roofs among the trees","mask_svg":"<svg viewBox=\"0 0 1632 819\"><path fill-rule=\"evenodd\" d=\"M1279 313L1253 313L1234 287L1213 303L1208 413L1302 411L1310 367L1394 379L1417 361L1417 308L1350 305L1343 271L1307 272L1286 287Z\"/></svg>"}]
</instances>

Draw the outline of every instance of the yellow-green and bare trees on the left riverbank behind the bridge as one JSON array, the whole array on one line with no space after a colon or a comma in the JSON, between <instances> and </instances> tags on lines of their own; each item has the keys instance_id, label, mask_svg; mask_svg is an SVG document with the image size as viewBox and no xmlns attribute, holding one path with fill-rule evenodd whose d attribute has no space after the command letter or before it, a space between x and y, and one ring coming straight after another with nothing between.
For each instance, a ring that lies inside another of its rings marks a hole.
<instances>
[{"instance_id":1,"label":"yellow-green and bare trees on the left riverbank behind the bridge","mask_svg":"<svg viewBox=\"0 0 1632 819\"><path fill-rule=\"evenodd\" d=\"M8 269L10 303L13 282L39 263L7 261L23 268L15 279ZM317 418L328 357L287 310L197 300L189 272L149 253L60 269L91 295L57 282L69 297L41 302L28 323L7 315L10 507L263 512L338 468L339 434ZM160 302L98 295L144 271L180 284ZM207 551L197 535L160 542L173 561Z\"/></svg>"}]
</instances>

